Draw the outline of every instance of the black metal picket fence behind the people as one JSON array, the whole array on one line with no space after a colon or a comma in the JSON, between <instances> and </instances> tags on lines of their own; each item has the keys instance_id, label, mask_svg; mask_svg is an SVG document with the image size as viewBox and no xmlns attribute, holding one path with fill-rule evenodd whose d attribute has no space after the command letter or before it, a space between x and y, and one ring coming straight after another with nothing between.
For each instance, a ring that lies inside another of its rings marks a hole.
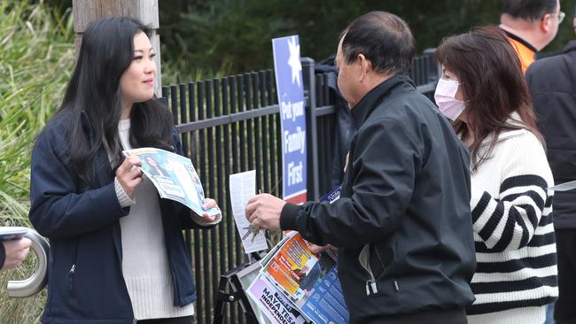
<instances>
[{"instance_id":1,"label":"black metal picket fence behind the people","mask_svg":"<svg viewBox=\"0 0 576 324\"><path fill-rule=\"evenodd\" d=\"M331 189L336 132L335 73L315 73L315 62L302 59L307 99L307 189L316 199ZM439 76L432 51L414 59L412 79L420 92L433 93ZM274 73L242 73L221 79L163 87L162 96L174 114L184 154L196 166L206 197L219 202L223 221L209 230L187 231L197 283L198 324L212 323L221 274L247 259L232 218L230 174L256 170L257 187L280 196L282 143ZM244 323L238 305L226 311L228 323Z\"/></svg>"}]
</instances>

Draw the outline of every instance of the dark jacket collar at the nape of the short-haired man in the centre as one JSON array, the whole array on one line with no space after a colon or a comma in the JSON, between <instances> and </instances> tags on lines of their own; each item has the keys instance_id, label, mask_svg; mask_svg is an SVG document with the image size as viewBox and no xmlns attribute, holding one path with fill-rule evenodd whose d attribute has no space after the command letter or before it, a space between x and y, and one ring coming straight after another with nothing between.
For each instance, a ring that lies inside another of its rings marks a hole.
<instances>
[{"instance_id":1,"label":"dark jacket collar at the nape of the short-haired man in the centre","mask_svg":"<svg viewBox=\"0 0 576 324\"><path fill-rule=\"evenodd\" d=\"M409 85L412 89L416 89L409 76L401 74L394 75L390 79L383 81L363 96L360 102L358 102L351 111L356 127L360 127L384 97L390 95L392 90L400 84Z\"/></svg>"}]
</instances>

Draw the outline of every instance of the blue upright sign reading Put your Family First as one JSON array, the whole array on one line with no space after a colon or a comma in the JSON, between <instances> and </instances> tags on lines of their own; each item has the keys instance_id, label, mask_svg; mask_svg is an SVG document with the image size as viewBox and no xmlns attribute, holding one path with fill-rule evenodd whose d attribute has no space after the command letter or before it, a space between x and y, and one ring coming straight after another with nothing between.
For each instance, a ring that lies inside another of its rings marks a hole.
<instances>
[{"instance_id":1,"label":"blue upright sign reading Put your Family First","mask_svg":"<svg viewBox=\"0 0 576 324\"><path fill-rule=\"evenodd\" d=\"M272 40L276 90L282 120L283 197L293 204L307 201L306 103L298 35Z\"/></svg>"}]
</instances>

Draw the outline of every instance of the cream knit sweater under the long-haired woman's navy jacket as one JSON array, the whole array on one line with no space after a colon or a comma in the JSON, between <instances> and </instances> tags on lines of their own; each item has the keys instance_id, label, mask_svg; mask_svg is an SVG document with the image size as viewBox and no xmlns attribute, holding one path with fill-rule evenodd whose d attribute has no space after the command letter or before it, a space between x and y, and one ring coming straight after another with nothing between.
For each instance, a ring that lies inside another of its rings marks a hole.
<instances>
[{"instance_id":1,"label":"cream knit sweater under the long-haired woman's navy jacket","mask_svg":"<svg viewBox=\"0 0 576 324\"><path fill-rule=\"evenodd\" d=\"M118 130L122 147L130 150L130 120L121 120ZM174 305L174 286L168 267L160 198L152 181L145 176L130 201L116 181L121 206L130 206L120 220L122 233L122 273L136 320L173 318L194 314L194 305ZM136 204L135 204L136 203Z\"/></svg>"}]
</instances>

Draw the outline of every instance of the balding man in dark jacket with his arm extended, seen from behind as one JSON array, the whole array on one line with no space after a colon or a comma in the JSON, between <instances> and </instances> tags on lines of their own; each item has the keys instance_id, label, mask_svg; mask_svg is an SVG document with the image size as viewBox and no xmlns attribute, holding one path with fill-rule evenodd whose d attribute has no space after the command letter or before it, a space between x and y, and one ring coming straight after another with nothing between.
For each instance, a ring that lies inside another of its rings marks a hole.
<instances>
[{"instance_id":1,"label":"balding man in dark jacket with his arm extended, seen from behind","mask_svg":"<svg viewBox=\"0 0 576 324\"><path fill-rule=\"evenodd\" d=\"M338 84L358 130L340 198L287 204L252 197L254 228L298 230L338 248L352 323L466 322L476 265L469 155L408 73L406 22L369 12L342 32Z\"/></svg>"}]
</instances>

